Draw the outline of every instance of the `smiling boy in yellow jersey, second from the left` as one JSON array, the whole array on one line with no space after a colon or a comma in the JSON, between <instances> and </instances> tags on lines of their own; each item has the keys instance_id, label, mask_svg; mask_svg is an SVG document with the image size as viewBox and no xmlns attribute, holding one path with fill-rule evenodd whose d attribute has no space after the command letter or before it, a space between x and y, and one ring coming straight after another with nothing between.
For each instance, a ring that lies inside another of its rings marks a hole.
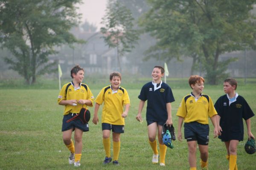
<instances>
[{"instance_id":1,"label":"smiling boy in yellow jersey, second from the left","mask_svg":"<svg viewBox=\"0 0 256 170\"><path fill-rule=\"evenodd\" d=\"M95 99L93 123L97 124L99 122L98 110L99 106L104 102L102 109L102 133L106 156L103 164L108 164L112 161L110 153L110 132L112 130L113 164L119 165L120 135L125 132L124 118L128 115L130 98L126 89L120 87L122 77L119 72L112 72L109 79L111 86L104 87ZM123 111L123 106L125 106L125 111Z\"/></svg>"}]
</instances>

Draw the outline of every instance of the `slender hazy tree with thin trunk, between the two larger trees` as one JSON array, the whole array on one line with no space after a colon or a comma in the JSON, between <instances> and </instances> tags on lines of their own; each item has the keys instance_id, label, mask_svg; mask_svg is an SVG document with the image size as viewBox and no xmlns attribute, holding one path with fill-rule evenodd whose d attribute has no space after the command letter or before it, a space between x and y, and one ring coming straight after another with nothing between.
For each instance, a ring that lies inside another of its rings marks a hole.
<instances>
[{"instance_id":1,"label":"slender hazy tree with thin trunk, between the two larger trees","mask_svg":"<svg viewBox=\"0 0 256 170\"><path fill-rule=\"evenodd\" d=\"M104 41L110 48L117 49L117 60L120 72L122 72L119 57L123 56L125 52L131 52L134 43L137 43L139 39L137 30L133 29L134 18L129 9L113 0L109 1L102 20L105 27L101 27L100 30L104 34Z\"/></svg>"}]
</instances>

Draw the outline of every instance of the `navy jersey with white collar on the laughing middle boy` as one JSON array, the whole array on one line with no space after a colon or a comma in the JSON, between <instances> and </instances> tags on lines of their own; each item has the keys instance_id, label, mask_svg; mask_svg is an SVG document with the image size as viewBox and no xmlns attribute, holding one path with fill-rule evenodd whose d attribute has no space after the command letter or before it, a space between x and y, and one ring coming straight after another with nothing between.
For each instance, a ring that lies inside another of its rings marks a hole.
<instances>
[{"instance_id":1,"label":"navy jersey with white collar on the laughing middle boy","mask_svg":"<svg viewBox=\"0 0 256 170\"><path fill-rule=\"evenodd\" d=\"M147 121L166 121L168 116L166 103L175 101L171 87L164 82L156 90L152 82L148 82L142 87L138 98L147 101Z\"/></svg>"}]
</instances>

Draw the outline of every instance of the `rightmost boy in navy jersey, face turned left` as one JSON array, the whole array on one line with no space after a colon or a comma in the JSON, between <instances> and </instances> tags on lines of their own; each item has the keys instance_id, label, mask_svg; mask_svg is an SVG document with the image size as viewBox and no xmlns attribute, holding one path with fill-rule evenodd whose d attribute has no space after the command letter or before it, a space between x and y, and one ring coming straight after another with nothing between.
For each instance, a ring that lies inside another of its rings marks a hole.
<instances>
[{"instance_id":1,"label":"rightmost boy in navy jersey, face turned left","mask_svg":"<svg viewBox=\"0 0 256 170\"><path fill-rule=\"evenodd\" d=\"M250 118L254 113L245 99L236 92L237 81L234 78L224 80L223 88L226 95L216 101L214 107L218 112L217 124L219 137L227 149L229 170L237 170L237 145L244 139L244 124L247 125L248 138L254 138L250 130Z\"/></svg>"}]
</instances>

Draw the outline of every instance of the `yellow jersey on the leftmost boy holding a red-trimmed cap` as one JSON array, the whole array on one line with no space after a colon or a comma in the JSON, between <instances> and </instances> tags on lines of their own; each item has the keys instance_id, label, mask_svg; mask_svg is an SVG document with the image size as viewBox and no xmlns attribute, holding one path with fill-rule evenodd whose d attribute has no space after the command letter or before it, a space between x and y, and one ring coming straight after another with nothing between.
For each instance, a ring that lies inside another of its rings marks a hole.
<instances>
[{"instance_id":1,"label":"yellow jersey on the leftmost boy holding a red-trimmed cap","mask_svg":"<svg viewBox=\"0 0 256 170\"><path fill-rule=\"evenodd\" d=\"M90 100L92 101L92 104L89 107L93 106L93 93L90 91L89 86L86 84L81 83L80 84L80 89L75 90L73 82L64 84L61 88L61 91L58 95L58 103L62 100L77 100L79 101L80 99L83 100ZM84 104L78 104L76 106L72 106L70 104L67 104L64 109L63 115L67 115L70 112L72 113L79 113L81 108L84 107L87 109L87 106Z\"/></svg>"}]
</instances>

